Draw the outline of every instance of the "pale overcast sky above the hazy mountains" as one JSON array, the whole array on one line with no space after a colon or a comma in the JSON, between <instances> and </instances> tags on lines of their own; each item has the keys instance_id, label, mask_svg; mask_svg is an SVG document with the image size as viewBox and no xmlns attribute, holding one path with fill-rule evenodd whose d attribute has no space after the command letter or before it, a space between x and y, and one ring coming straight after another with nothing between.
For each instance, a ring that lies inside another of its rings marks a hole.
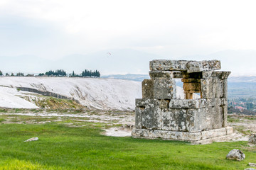
<instances>
[{"instance_id":1,"label":"pale overcast sky above the hazy mountains","mask_svg":"<svg viewBox=\"0 0 256 170\"><path fill-rule=\"evenodd\" d=\"M197 60L256 50L255 6L255 0L0 0L0 56L52 60L132 49Z\"/></svg>"}]
</instances>

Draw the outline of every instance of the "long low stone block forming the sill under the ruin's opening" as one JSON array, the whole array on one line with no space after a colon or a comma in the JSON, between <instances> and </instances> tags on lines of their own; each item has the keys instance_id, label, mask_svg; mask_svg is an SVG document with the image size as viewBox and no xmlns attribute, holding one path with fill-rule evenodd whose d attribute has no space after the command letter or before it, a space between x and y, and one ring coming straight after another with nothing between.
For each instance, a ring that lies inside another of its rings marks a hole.
<instances>
[{"instance_id":1,"label":"long low stone block forming the sill under the ruin's opening","mask_svg":"<svg viewBox=\"0 0 256 170\"><path fill-rule=\"evenodd\" d=\"M171 99L169 108L206 108L206 99Z\"/></svg>"}]
</instances>

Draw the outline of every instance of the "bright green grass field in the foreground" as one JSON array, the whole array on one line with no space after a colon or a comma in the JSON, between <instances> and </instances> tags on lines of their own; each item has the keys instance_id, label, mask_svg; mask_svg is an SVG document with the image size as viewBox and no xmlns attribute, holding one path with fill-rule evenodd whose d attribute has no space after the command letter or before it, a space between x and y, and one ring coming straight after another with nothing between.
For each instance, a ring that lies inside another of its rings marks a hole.
<instances>
[{"instance_id":1,"label":"bright green grass field in the foreground","mask_svg":"<svg viewBox=\"0 0 256 170\"><path fill-rule=\"evenodd\" d=\"M187 142L107 137L99 126L1 124L0 169L245 169L256 161L247 142ZM38 141L23 142L31 137ZM225 159L241 149L242 162Z\"/></svg>"}]
</instances>

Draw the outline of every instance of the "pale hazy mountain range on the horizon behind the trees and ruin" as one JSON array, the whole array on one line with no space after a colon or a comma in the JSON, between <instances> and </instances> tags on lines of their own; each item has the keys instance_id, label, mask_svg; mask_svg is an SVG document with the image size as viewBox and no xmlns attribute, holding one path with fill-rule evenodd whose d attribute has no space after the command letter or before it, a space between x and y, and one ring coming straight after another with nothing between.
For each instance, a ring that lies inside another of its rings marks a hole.
<instances>
[{"instance_id":1,"label":"pale hazy mountain range on the horizon behind the trees and ruin","mask_svg":"<svg viewBox=\"0 0 256 170\"><path fill-rule=\"evenodd\" d=\"M230 77L256 75L256 50L225 50L210 55L191 55L172 57L150 54L139 50L102 50L87 55L73 54L56 60L36 56L0 56L2 72L47 72L49 69L65 69L79 74L84 69L99 70L102 75L110 74L148 74L150 60L220 60L222 70L231 71Z\"/></svg>"}]
</instances>

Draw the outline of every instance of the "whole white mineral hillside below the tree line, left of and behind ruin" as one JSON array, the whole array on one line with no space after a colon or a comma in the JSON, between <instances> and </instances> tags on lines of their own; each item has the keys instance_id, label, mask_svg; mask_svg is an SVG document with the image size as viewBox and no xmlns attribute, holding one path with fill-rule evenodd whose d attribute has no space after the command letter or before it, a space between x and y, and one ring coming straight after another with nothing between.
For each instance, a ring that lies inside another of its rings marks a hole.
<instances>
[{"instance_id":1,"label":"whole white mineral hillside below the tree line, left of and behind ruin","mask_svg":"<svg viewBox=\"0 0 256 170\"><path fill-rule=\"evenodd\" d=\"M135 98L142 98L141 82L121 79L0 77L0 86L0 107L8 108L36 108L33 103L18 97L25 92L18 92L17 87L50 91L74 98L87 108L102 110L134 110ZM178 86L177 98L183 98L183 89Z\"/></svg>"}]
</instances>

